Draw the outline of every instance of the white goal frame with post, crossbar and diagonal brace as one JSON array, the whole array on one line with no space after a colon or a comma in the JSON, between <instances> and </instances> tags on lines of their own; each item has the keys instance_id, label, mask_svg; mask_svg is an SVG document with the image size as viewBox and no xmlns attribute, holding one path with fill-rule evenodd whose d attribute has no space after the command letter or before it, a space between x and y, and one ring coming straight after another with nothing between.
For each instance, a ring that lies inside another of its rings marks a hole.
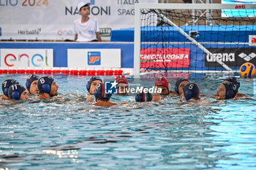
<instances>
[{"instance_id":1,"label":"white goal frame with post, crossbar and diagonal brace","mask_svg":"<svg viewBox=\"0 0 256 170\"><path fill-rule=\"evenodd\" d=\"M183 36L185 36L189 41L191 41L194 45L199 47L201 50L203 50L204 53L211 55L212 58L214 58L217 63L219 63L222 67L227 69L227 71L232 71L229 66L227 66L225 63L223 63L219 58L216 58L215 55L213 55L210 51L208 51L203 45L200 44L200 42L197 42L195 39L193 39L189 34L184 32L179 26L177 26L175 23L173 23L171 20L166 18L164 15L162 15L160 12L158 12L158 9L237 9L237 7L240 4L145 4L145 3L138 3L135 4L135 44L134 44L134 75L138 76L140 75L140 24L141 24L141 15L140 10L141 9L154 9L154 13L157 14L158 18L161 18L164 20L165 23L168 23L168 25L173 26L176 28L177 31L179 31ZM243 4L243 9L256 9L256 4Z\"/></svg>"}]
</instances>

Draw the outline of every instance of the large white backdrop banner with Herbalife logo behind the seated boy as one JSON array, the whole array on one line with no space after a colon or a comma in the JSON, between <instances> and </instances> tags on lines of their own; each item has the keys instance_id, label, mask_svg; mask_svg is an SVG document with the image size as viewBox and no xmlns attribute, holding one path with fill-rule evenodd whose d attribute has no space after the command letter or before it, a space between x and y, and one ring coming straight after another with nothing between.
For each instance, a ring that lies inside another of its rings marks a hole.
<instances>
[{"instance_id":1,"label":"large white backdrop banner with Herbalife logo behind the seated boy","mask_svg":"<svg viewBox=\"0 0 256 170\"><path fill-rule=\"evenodd\" d=\"M82 0L0 0L0 39L74 39L73 21ZM158 0L90 0L90 17L99 21L102 38L134 27L135 3Z\"/></svg>"}]
</instances>

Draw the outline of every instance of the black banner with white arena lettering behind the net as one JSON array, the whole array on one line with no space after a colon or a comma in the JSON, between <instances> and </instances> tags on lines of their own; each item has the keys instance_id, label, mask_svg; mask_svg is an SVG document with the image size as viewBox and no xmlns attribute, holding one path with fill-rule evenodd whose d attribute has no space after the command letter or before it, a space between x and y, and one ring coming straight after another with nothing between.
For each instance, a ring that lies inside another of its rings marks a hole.
<instances>
[{"instance_id":1,"label":"black banner with white arena lettering behind the net","mask_svg":"<svg viewBox=\"0 0 256 170\"><path fill-rule=\"evenodd\" d=\"M209 48L208 50L227 66L240 67L246 62L256 64L256 48L253 47ZM219 67L221 65L211 55L205 54L205 66Z\"/></svg>"}]
</instances>

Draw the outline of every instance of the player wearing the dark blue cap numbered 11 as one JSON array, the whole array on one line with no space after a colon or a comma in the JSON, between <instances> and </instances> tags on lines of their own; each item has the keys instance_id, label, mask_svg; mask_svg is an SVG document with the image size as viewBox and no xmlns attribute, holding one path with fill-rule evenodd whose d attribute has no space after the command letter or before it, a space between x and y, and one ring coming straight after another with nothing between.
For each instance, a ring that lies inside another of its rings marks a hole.
<instances>
[{"instance_id":1,"label":"player wearing the dark blue cap numbered 11","mask_svg":"<svg viewBox=\"0 0 256 170\"><path fill-rule=\"evenodd\" d=\"M11 85L8 90L8 96L10 99L15 100L27 100L29 98L26 88L24 88L23 85L20 84Z\"/></svg>"}]
</instances>

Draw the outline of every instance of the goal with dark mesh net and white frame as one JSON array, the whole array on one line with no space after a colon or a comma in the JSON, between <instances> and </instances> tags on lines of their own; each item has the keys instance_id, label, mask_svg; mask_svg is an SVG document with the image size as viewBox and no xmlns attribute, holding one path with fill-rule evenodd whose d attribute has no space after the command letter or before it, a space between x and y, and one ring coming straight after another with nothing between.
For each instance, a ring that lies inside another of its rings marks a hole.
<instances>
[{"instance_id":1,"label":"goal with dark mesh net and white frame","mask_svg":"<svg viewBox=\"0 0 256 170\"><path fill-rule=\"evenodd\" d=\"M256 64L256 4L135 4L134 72Z\"/></svg>"}]
</instances>

